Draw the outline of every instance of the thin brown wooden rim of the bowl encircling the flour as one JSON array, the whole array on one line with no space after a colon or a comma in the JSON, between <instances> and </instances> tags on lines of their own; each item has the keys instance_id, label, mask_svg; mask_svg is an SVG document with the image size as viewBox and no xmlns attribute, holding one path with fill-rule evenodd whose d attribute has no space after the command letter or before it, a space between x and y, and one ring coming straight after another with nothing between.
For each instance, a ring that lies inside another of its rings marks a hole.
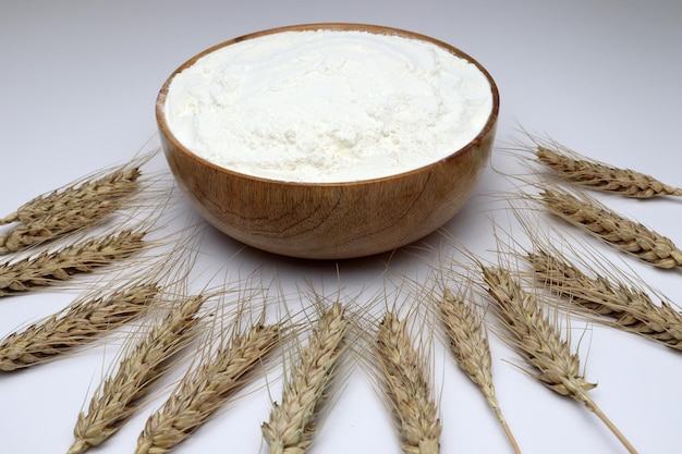
<instances>
[{"instance_id":1,"label":"thin brown wooden rim of the bowl encircling the flour","mask_svg":"<svg viewBox=\"0 0 682 454\"><path fill-rule=\"evenodd\" d=\"M478 71L480 71L483 73L483 75L486 77L486 79L488 81L488 84L490 85L490 94L491 94L491 98L492 98L492 106L490 109L490 113L488 114L488 118L486 120L486 123L484 124L484 126L480 128L480 131L478 132L478 134L472 139L470 140L466 145L464 145L463 147L452 151L451 154L449 154L448 156L429 162L427 164L424 164L422 167L418 167L416 169L412 169L412 170L407 170L404 172L400 172L400 173L394 173L394 174L390 174L390 175L385 175L385 176L378 176L378 177L374 177L374 179L364 179L364 180L354 180L354 181L340 181L340 182L301 182L301 181L289 181L289 180L277 180L277 179L268 179L268 177L264 177L264 176L258 176L258 175L252 175L248 173L242 173L242 172L238 172L235 170L216 164L215 162L211 162L205 158L202 158L200 156L196 155L195 152L193 152L191 149L188 149L186 146L184 146L176 137L175 135L172 133L168 121L166 119L166 111L165 111L165 106L166 106L166 99L168 97L168 91L170 88L170 84L172 83L173 78L175 77L175 75L178 75L179 73L181 73L182 71L184 71L185 69L192 66L197 60L199 60L200 58L207 56L208 53L211 53L218 49L221 49L223 47L240 42L240 41L244 41L247 39L253 39L253 38L257 38L259 36L265 36L265 35L272 35L272 34L278 34L278 33L283 33L283 32L305 32L305 30L319 30L319 29L326 29L326 30L357 30L357 32L368 32L368 33L375 33L375 34L383 34L383 35L395 35L395 36L402 36L402 37L406 37L406 38L412 38L412 39L418 39L418 40L424 40L427 42L431 42L435 44L436 46L439 46L443 49L446 49L447 51L453 53L456 57L460 57L466 61L468 61L470 63L474 64ZM402 28L395 28L395 27L391 27L391 26L385 26L385 25L375 25L375 24L363 24L363 23L352 23L352 22L319 22L319 23L307 23L307 24L297 24L297 25L285 25L285 26L280 26L280 27L273 27L273 28L267 28L267 29L261 29L258 32L253 32L246 35L241 35L238 36L235 38L231 38L228 39L226 41L219 42L215 46L211 46L198 53L196 53L195 56L193 56L192 58L190 58L188 60L186 60L184 63L182 63L180 66L178 66L166 79L166 82L163 83L163 85L161 86L161 89L159 90L158 95L157 95L157 99L156 99L156 120L157 120L157 124L158 127L161 130L162 134L166 136L166 139L171 142L173 147L176 150L180 150L182 154L186 155L187 158L191 159L195 159L198 160L203 165L209 167L211 168L211 170L214 171L218 171L221 173L227 173L229 175L232 176L236 176L236 177L243 177L243 179L248 179L248 180L253 180L253 181L259 181L263 183L275 183L275 184L279 184L279 185L283 185L283 186L296 186L296 187L342 187L342 186L355 186L358 184L377 184L377 183L382 183L382 182L387 182L387 181L391 181L391 180L395 180L395 179L403 179L403 177L410 177L412 175L418 174L421 172L424 172L428 169L431 169L434 167L438 167L438 165L444 165L448 163L448 161L455 159L459 155L462 155L464 152L466 152L468 149L471 149L472 147L478 146L482 140L489 135L489 133L491 132L491 130L494 130L496 127L497 124L497 119L499 115L499 110L500 110L500 95L499 95L499 90L497 87L497 84L495 82L495 79L492 78L492 76L490 75L490 73L488 72L488 70L486 70L485 66L483 66L483 64L480 64L476 59L474 59L473 57L471 57L468 53L462 51L461 49L441 41L437 38L434 38L431 36L428 35L423 35L416 32L411 32L411 30L406 30L406 29L402 29Z\"/></svg>"}]
</instances>

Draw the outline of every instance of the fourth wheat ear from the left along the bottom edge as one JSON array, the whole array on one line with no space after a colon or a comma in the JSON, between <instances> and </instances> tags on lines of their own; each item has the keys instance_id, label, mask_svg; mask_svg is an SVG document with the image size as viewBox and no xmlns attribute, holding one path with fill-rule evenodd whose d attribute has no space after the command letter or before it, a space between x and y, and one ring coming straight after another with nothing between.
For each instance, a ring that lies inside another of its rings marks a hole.
<instances>
[{"instance_id":1,"label":"fourth wheat ear from the left along the bottom edge","mask_svg":"<svg viewBox=\"0 0 682 454\"><path fill-rule=\"evenodd\" d=\"M386 396L399 424L403 452L439 453L442 426L424 359L412 345L406 320L386 312L377 333L376 357Z\"/></svg>"}]
</instances>

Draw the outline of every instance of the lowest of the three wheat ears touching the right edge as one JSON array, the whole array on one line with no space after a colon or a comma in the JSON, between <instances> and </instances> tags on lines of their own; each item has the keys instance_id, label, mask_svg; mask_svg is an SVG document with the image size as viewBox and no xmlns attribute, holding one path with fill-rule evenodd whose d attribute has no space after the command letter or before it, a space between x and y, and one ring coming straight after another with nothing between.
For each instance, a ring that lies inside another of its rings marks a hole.
<instances>
[{"instance_id":1,"label":"lowest of the three wheat ears touching the right edge","mask_svg":"<svg viewBox=\"0 0 682 454\"><path fill-rule=\"evenodd\" d=\"M682 349L682 314L666 302L658 306L644 291L624 282L598 274L590 278L569 260L543 249L528 254L527 259L540 282L589 314L609 317L609 326Z\"/></svg>"}]
</instances>

